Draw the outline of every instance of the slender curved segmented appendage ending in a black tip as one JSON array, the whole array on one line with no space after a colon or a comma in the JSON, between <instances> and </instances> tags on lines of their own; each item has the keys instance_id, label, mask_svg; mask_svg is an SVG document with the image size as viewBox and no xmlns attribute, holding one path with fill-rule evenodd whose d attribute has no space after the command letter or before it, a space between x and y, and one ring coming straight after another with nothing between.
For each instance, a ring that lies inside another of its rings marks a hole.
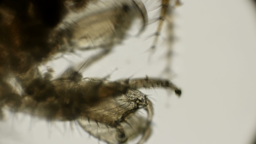
<instances>
[{"instance_id":1,"label":"slender curved segmented appendage ending in a black tip","mask_svg":"<svg viewBox=\"0 0 256 144\"><path fill-rule=\"evenodd\" d=\"M144 79L121 79L117 82L126 84L129 88L138 89L138 88L165 88L171 89L175 92L177 96L181 96L181 89L177 88L172 82L167 79L154 79L154 78L146 78Z\"/></svg>"}]
</instances>

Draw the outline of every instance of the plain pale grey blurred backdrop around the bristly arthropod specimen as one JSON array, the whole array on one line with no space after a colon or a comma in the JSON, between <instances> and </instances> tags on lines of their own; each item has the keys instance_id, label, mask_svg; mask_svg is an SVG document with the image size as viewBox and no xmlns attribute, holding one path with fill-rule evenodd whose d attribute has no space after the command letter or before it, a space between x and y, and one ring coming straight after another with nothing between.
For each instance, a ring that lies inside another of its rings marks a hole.
<instances>
[{"instance_id":1,"label":"plain pale grey blurred backdrop around the bristly arthropod specimen","mask_svg":"<svg viewBox=\"0 0 256 144\"><path fill-rule=\"evenodd\" d=\"M151 20L158 17L158 0L144 0ZM252 144L256 136L256 3L252 0L183 0L174 11L175 42L172 81L181 98L165 90L142 91L154 103L153 133L147 144ZM131 30L113 52L85 70L85 77L111 80L161 77L166 36L157 50L148 48L155 32L151 23L139 38ZM135 23L134 28L138 28ZM163 31L164 33L164 31ZM93 52L85 52L89 57ZM81 59L70 55L69 59ZM150 59L150 60L148 60ZM72 62L50 62L56 75ZM67 65L63 67L63 65ZM0 144L97 144L75 123L46 122L7 114L0 122ZM99 142L103 144L104 142Z\"/></svg>"}]
</instances>

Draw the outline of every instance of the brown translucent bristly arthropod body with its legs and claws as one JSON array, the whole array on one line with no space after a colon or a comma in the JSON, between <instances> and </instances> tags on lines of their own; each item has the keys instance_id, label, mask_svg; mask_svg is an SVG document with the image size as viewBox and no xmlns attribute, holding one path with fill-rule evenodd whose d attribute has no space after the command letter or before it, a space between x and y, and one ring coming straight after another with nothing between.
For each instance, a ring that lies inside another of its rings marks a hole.
<instances>
[{"instance_id":1,"label":"brown translucent bristly arthropod body with its legs and claws","mask_svg":"<svg viewBox=\"0 0 256 144\"><path fill-rule=\"evenodd\" d=\"M170 3L162 0L152 48L171 11ZM109 81L83 78L80 72L108 55L136 17L143 21L142 32L148 16L140 0L1 0L0 118L4 118L4 108L47 121L77 121L89 134L110 144L139 136L137 143L144 143L151 134L154 110L138 89L171 89L178 96L181 90L167 79L146 76ZM88 49L102 51L56 79L53 68L45 73L39 70L53 58ZM147 117L138 113L140 109L147 111Z\"/></svg>"}]
</instances>

